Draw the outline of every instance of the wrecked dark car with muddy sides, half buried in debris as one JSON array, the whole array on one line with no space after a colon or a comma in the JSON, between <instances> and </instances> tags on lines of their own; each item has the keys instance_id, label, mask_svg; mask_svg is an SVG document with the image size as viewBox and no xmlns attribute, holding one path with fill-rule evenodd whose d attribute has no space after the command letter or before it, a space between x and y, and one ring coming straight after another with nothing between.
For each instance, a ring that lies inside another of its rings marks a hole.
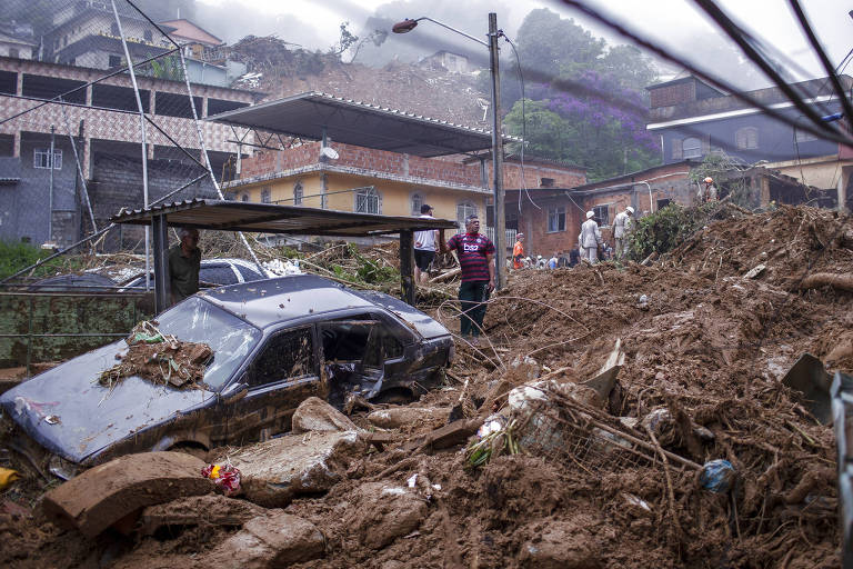
<instances>
[{"instance_id":1,"label":"wrecked dark car with muddy sides, half buried in debris","mask_svg":"<svg viewBox=\"0 0 853 569\"><path fill-rule=\"evenodd\" d=\"M338 407L355 396L414 399L453 358L450 333L425 313L312 274L199 292L157 326L212 349L203 381L179 389L131 376L106 387L100 375L129 347L101 347L0 396L13 449L38 449L39 462L70 478L131 452L240 446L289 430L311 396Z\"/></svg>"}]
</instances>

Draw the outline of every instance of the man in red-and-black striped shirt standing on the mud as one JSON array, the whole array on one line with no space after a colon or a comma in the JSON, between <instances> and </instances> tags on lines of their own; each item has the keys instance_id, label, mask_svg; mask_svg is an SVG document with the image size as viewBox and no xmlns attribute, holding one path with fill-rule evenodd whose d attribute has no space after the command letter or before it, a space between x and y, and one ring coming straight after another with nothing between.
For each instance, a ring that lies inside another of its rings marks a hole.
<instances>
[{"instance_id":1,"label":"man in red-and-black striped shirt standing on the mud","mask_svg":"<svg viewBox=\"0 0 853 569\"><path fill-rule=\"evenodd\" d=\"M494 290L494 243L480 233L480 219L473 214L465 218L465 232L456 233L446 242L444 230L439 231L439 247L443 253L456 251L462 268L460 331L463 338L475 339L483 330L486 301Z\"/></svg>"}]
</instances>

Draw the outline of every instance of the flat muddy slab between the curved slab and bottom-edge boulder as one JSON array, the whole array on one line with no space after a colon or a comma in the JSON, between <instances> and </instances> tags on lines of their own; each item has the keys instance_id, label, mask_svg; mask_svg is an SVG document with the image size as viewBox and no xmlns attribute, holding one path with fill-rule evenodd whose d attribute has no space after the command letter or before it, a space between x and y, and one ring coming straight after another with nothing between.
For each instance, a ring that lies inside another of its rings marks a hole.
<instances>
[{"instance_id":1,"label":"flat muddy slab between the curved slab and bottom-edge boulder","mask_svg":"<svg viewBox=\"0 0 853 569\"><path fill-rule=\"evenodd\" d=\"M245 500L218 493L190 496L142 510L140 533L151 536L165 526L242 526L269 510Z\"/></svg>"}]
</instances>

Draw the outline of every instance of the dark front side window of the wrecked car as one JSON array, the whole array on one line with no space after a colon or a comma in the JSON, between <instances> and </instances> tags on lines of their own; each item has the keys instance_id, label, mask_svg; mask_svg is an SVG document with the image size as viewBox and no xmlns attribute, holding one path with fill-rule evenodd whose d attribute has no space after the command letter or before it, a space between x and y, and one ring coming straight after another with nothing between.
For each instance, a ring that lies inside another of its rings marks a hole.
<instances>
[{"instance_id":1,"label":"dark front side window of the wrecked car","mask_svg":"<svg viewBox=\"0 0 853 569\"><path fill-rule=\"evenodd\" d=\"M288 330L270 339L250 375L249 386L259 387L314 375L314 342L311 328Z\"/></svg>"}]
</instances>

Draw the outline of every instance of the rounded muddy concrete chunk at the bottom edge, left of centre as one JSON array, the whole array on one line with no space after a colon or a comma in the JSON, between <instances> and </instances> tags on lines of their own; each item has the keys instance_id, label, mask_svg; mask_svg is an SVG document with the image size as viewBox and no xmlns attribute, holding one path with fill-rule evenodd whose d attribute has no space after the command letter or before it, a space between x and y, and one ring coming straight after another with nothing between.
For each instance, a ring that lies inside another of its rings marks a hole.
<instances>
[{"instance_id":1,"label":"rounded muddy concrete chunk at the bottom edge, left of centre","mask_svg":"<svg viewBox=\"0 0 853 569\"><path fill-rule=\"evenodd\" d=\"M204 556L202 566L279 568L319 559L324 550L325 538L317 526L279 510L248 521Z\"/></svg>"}]
</instances>

